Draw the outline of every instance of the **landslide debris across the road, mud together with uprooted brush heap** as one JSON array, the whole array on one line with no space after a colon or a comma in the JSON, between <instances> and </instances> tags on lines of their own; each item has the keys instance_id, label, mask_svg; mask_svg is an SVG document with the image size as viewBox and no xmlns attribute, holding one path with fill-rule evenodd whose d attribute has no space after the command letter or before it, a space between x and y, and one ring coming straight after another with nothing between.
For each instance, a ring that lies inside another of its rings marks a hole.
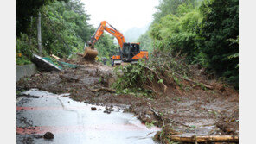
<instances>
[{"instance_id":1,"label":"landslide debris across the road, mud together with uprooted brush heap","mask_svg":"<svg viewBox=\"0 0 256 144\"><path fill-rule=\"evenodd\" d=\"M38 72L17 82L17 89L70 93L74 100L106 105L106 113L111 113L111 105L128 106L125 112L163 128L166 135L239 135L238 91L208 75L201 66L187 66L182 58L174 59L158 53L147 65L124 66L118 76L112 67L98 62L64 59L80 66ZM163 137L156 136L167 141Z\"/></svg>"}]
</instances>

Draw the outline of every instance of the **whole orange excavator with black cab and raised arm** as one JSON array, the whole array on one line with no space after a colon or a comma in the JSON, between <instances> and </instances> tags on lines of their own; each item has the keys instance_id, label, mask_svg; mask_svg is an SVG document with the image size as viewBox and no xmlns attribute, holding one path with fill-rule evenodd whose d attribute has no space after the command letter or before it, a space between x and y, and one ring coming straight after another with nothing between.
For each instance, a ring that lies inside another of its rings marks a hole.
<instances>
[{"instance_id":1,"label":"whole orange excavator with black cab and raised arm","mask_svg":"<svg viewBox=\"0 0 256 144\"><path fill-rule=\"evenodd\" d=\"M94 32L91 40L86 43L85 53L83 55L85 59L94 60L98 55L98 51L94 48L94 44L99 40L104 30L115 36L119 44L119 52L117 55L112 56L112 64L119 65L122 62L130 63L138 61L138 59L149 59L149 53L147 51L140 50L139 43L125 42L124 35L106 21L100 22L99 27Z\"/></svg>"}]
</instances>

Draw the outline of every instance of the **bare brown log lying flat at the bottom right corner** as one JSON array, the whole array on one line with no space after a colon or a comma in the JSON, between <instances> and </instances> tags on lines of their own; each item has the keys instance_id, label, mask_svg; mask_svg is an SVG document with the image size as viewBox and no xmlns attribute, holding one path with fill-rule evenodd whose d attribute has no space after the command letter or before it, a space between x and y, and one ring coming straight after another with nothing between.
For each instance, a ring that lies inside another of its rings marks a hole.
<instances>
[{"instance_id":1,"label":"bare brown log lying flat at the bottom right corner","mask_svg":"<svg viewBox=\"0 0 256 144\"><path fill-rule=\"evenodd\" d=\"M182 142L239 142L238 136L233 135L206 135L206 136L180 136L170 135L171 141Z\"/></svg>"}]
</instances>

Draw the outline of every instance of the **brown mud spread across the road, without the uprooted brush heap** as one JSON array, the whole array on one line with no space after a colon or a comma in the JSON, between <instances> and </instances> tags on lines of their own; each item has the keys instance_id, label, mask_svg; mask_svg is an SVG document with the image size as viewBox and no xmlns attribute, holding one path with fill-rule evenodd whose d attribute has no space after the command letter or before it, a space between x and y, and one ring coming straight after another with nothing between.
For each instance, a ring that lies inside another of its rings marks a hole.
<instances>
[{"instance_id":1,"label":"brown mud spread across the road, without the uprooted brush heap","mask_svg":"<svg viewBox=\"0 0 256 144\"><path fill-rule=\"evenodd\" d=\"M213 90L200 86L180 90L169 85L167 92L156 99L118 95L107 91L114 81L112 67L83 59L65 62L80 67L62 72L38 72L29 78L22 78L17 82L17 91L37 88L58 94L70 93L68 97L85 103L126 105L128 109L125 111L134 113L142 122L154 123L159 127L164 124L164 131L168 135L239 135L239 95L232 87L207 81L198 74L202 82L214 85ZM101 91L95 91L99 89ZM148 103L169 121L156 116Z\"/></svg>"}]
</instances>

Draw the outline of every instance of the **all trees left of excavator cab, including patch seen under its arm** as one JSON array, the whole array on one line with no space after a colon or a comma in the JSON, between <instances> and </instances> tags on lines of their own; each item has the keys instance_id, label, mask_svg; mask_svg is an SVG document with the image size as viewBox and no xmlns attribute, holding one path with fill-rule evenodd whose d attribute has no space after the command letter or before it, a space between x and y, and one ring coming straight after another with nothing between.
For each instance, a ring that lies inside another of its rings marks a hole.
<instances>
[{"instance_id":1,"label":"all trees left of excavator cab, including patch seen under its arm","mask_svg":"<svg viewBox=\"0 0 256 144\"><path fill-rule=\"evenodd\" d=\"M31 9L25 9L26 5ZM68 58L73 53L83 53L86 41L89 41L95 28L88 24L84 4L80 0L59 1L17 1L17 64L29 62L32 53L37 53L36 16L42 17L42 55L57 55ZM109 57L117 47L113 38L106 35L96 48L100 57Z\"/></svg>"}]
</instances>

